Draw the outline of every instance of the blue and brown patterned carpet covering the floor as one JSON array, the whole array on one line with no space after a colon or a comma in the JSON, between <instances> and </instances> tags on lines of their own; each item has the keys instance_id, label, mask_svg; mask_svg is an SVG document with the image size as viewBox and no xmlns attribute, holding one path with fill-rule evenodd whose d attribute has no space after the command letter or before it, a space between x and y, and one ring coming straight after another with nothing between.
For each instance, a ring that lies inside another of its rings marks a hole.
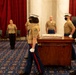
<instances>
[{"instance_id":1,"label":"blue and brown patterned carpet covering the floor","mask_svg":"<svg viewBox=\"0 0 76 75\"><path fill-rule=\"evenodd\" d=\"M76 48L76 45L74 45ZM25 57L28 54L26 41L16 41L15 49L11 50L9 41L0 41L0 75L19 75L26 66ZM69 72L76 70L76 61L71 61L71 68L62 66L45 66L44 75L69 75ZM31 74L37 72L35 65L32 65Z\"/></svg>"}]
</instances>

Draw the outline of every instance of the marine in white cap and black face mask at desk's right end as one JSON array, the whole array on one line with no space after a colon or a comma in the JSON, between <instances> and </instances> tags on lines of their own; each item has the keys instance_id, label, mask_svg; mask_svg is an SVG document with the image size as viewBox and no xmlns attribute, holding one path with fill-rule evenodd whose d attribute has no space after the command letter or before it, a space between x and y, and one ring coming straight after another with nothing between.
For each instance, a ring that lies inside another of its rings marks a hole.
<instances>
[{"instance_id":1,"label":"marine in white cap and black face mask at desk's right end","mask_svg":"<svg viewBox=\"0 0 76 75\"><path fill-rule=\"evenodd\" d=\"M70 16L70 14L65 15L66 22L64 24L64 36L72 37L73 33L75 32L75 26L70 20Z\"/></svg>"}]
</instances>

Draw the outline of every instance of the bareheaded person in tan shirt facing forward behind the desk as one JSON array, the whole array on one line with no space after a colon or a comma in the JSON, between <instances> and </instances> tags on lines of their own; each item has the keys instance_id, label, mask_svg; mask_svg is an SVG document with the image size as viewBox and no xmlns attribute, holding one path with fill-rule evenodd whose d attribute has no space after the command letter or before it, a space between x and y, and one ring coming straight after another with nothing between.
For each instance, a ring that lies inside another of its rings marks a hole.
<instances>
[{"instance_id":1,"label":"bareheaded person in tan shirt facing forward behind the desk","mask_svg":"<svg viewBox=\"0 0 76 75\"><path fill-rule=\"evenodd\" d=\"M53 20L53 17L50 16L50 20L46 22L46 33L47 34L55 34L56 33L56 23Z\"/></svg>"}]
</instances>

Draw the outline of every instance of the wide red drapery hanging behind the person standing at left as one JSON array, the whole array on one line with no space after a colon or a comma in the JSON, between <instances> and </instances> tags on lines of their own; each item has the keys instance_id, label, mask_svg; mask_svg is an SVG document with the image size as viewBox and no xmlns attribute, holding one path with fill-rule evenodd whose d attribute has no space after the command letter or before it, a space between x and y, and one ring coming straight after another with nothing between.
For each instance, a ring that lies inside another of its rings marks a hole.
<instances>
[{"instance_id":1,"label":"wide red drapery hanging behind the person standing at left","mask_svg":"<svg viewBox=\"0 0 76 75\"><path fill-rule=\"evenodd\" d=\"M21 36L26 36L25 23L27 19L27 0L0 0L0 29L6 34L9 20L12 19Z\"/></svg>"}]
</instances>

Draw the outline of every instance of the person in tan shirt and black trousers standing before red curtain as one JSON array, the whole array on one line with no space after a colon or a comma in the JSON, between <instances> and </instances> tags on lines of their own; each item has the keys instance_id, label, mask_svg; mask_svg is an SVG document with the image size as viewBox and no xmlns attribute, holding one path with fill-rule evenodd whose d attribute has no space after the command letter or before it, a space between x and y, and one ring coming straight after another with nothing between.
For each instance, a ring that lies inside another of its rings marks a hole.
<instances>
[{"instance_id":1,"label":"person in tan shirt and black trousers standing before red curtain","mask_svg":"<svg viewBox=\"0 0 76 75\"><path fill-rule=\"evenodd\" d=\"M10 20L10 24L8 24L8 26L7 26L7 31L9 34L10 47L11 47L11 49L14 49L16 35L17 35L17 27L15 24L13 24L13 20Z\"/></svg>"}]
</instances>

